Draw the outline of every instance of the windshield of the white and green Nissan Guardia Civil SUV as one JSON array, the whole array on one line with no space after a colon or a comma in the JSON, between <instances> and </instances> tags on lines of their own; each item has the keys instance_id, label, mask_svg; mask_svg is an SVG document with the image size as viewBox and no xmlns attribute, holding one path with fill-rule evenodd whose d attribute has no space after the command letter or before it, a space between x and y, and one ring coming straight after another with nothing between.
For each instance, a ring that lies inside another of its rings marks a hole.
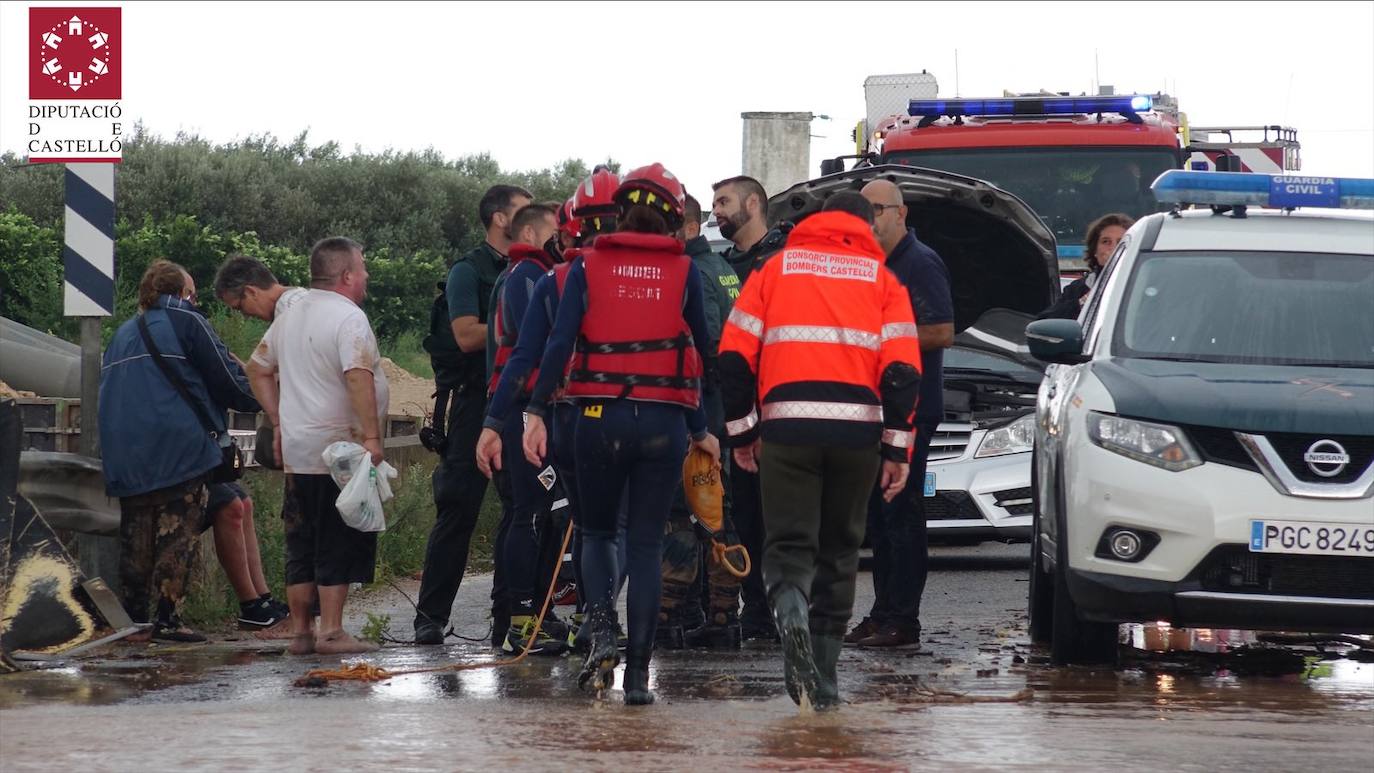
<instances>
[{"instance_id":1,"label":"windshield of the white and green Nissan Guardia Civil SUV","mask_svg":"<svg viewBox=\"0 0 1374 773\"><path fill-rule=\"evenodd\" d=\"M1374 367L1374 257L1142 253L1117 317L1127 357Z\"/></svg>"}]
</instances>

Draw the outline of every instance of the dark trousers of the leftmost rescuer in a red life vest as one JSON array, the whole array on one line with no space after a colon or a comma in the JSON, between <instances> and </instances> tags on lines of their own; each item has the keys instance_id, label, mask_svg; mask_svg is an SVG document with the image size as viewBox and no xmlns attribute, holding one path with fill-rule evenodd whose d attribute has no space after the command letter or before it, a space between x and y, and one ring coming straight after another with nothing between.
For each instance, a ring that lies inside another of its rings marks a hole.
<instances>
[{"instance_id":1,"label":"dark trousers of the leftmost rescuer in a red life vest","mask_svg":"<svg viewBox=\"0 0 1374 773\"><path fill-rule=\"evenodd\" d=\"M554 494L552 468L537 468L525 459L522 446L525 423L521 417L525 406L518 405L507 416L502 428L502 454L511 489L511 519L502 545L506 608L511 615L536 615L543 603L547 582L547 567L541 566L541 546L550 534ZM540 478L548 481L545 486Z\"/></svg>"}]
</instances>

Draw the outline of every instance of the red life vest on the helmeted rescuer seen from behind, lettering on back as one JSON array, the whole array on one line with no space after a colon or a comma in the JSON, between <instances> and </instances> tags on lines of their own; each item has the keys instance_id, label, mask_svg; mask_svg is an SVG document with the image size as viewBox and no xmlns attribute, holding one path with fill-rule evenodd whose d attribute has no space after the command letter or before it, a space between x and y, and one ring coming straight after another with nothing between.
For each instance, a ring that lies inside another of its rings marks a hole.
<instances>
[{"instance_id":1,"label":"red life vest on the helmeted rescuer seen from behind, lettering on back","mask_svg":"<svg viewBox=\"0 0 1374 773\"><path fill-rule=\"evenodd\" d=\"M567 397L695 408L701 354L683 319L691 258L671 236L609 233L583 251L587 313Z\"/></svg>"}]
</instances>

